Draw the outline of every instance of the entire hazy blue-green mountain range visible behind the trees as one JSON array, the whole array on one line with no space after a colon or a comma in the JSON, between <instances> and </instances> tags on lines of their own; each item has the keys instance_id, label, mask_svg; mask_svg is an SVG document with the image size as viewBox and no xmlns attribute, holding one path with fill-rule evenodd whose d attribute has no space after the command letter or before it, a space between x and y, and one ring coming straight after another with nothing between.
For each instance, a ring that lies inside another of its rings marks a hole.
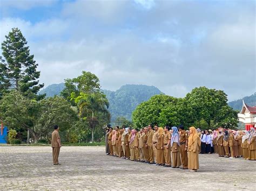
<instances>
[{"instance_id":1,"label":"entire hazy blue-green mountain range visible behind the trees","mask_svg":"<svg viewBox=\"0 0 256 191\"><path fill-rule=\"evenodd\" d=\"M59 95L60 91L64 88L64 83L51 84L45 89L39 91L38 94L46 94L46 97L53 97L55 95ZM109 111L112 121L121 116L131 121L132 111L137 107L137 105L149 100L153 95L164 94L157 87L135 84L126 84L116 91L105 89L102 91L106 95L107 100L109 100ZM228 105L230 105L234 110L240 110L242 107L242 100L244 100L247 105L254 106L256 105L256 93L239 100L228 102Z\"/></svg>"}]
</instances>

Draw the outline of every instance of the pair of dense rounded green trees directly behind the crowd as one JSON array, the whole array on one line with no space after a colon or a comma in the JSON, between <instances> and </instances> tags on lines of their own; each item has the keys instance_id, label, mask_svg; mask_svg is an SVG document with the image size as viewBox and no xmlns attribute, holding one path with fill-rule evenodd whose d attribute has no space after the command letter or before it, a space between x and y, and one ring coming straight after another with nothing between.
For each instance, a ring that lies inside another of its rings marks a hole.
<instances>
[{"instance_id":1,"label":"pair of dense rounded green trees directly behind the crowd","mask_svg":"<svg viewBox=\"0 0 256 191\"><path fill-rule=\"evenodd\" d=\"M200 126L202 129L223 126L237 127L237 112L227 105L224 91L194 88L185 98L155 95L133 111L132 120L141 128L150 123L160 126L179 124Z\"/></svg>"}]
</instances>

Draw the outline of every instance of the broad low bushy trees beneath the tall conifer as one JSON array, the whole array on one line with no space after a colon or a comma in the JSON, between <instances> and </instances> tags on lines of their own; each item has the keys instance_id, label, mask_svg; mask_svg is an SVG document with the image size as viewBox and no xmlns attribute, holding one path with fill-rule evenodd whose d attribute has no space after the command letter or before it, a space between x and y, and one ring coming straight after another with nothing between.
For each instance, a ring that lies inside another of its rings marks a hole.
<instances>
[{"instance_id":1,"label":"broad low bushy trees beneath the tall conifer","mask_svg":"<svg viewBox=\"0 0 256 191\"><path fill-rule=\"evenodd\" d=\"M70 128L77 120L76 112L62 97L29 100L16 90L4 94L0 112L5 124L10 128L30 131L36 141L40 137L48 138L53 125L58 124L61 129Z\"/></svg>"}]
</instances>

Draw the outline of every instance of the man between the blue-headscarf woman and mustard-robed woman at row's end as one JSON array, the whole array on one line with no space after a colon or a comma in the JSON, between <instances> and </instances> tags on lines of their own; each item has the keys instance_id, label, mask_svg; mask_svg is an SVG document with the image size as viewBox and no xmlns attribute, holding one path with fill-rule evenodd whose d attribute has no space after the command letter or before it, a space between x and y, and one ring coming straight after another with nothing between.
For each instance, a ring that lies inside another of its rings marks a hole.
<instances>
[{"instance_id":1,"label":"man between the blue-headscarf woman and mustard-robed woman at row's end","mask_svg":"<svg viewBox=\"0 0 256 191\"><path fill-rule=\"evenodd\" d=\"M187 163L188 163L188 159L187 159L187 144L188 144L188 134L185 131L185 128L183 125L179 126L179 131L180 131L180 135L179 135L179 143L180 143L180 157L181 157L181 164L182 167L180 167L181 169L187 169Z\"/></svg>"}]
</instances>

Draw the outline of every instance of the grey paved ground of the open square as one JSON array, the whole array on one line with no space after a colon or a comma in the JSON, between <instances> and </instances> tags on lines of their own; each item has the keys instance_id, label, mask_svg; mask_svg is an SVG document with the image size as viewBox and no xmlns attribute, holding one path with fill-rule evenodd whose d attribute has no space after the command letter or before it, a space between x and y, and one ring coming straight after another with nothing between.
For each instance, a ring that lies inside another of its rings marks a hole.
<instances>
[{"instance_id":1,"label":"grey paved ground of the open square","mask_svg":"<svg viewBox=\"0 0 256 191\"><path fill-rule=\"evenodd\" d=\"M256 161L200 155L196 173L104 154L105 147L0 146L0 190L255 190Z\"/></svg>"}]
</instances>

